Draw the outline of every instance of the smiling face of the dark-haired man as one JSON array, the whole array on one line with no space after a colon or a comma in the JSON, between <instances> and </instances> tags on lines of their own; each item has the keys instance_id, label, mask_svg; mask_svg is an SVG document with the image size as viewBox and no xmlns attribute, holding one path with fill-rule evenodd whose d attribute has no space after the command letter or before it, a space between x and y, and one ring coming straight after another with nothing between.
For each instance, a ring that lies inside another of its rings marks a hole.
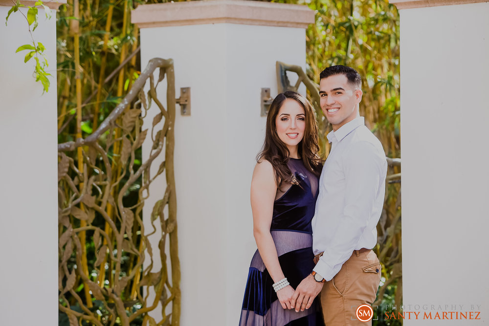
<instances>
[{"instance_id":1,"label":"smiling face of the dark-haired man","mask_svg":"<svg viewBox=\"0 0 489 326\"><path fill-rule=\"evenodd\" d=\"M333 131L357 117L362 91L349 83L344 74L321 79L319 96L321 97L321 109L333 126Z\"/></svg>"}]
</instances>

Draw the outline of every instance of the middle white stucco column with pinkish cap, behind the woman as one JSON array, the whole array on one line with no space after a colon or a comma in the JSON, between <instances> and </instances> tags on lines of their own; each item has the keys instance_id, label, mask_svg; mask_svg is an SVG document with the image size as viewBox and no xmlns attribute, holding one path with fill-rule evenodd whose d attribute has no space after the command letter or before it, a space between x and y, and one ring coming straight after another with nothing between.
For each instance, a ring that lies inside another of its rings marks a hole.
<instances>
[{"instance_id":1,"label":"middle white stucco column with pinkish cap, behind the woman","mask_svg":"<svg viewBox=\"0 0 489 326\"><path fill-rule=\"evenodd\" d=\"M259 1L148 4L133 11L142 68L151 58L171 58L177 96L180 87L191 87L191 115L180 115L177 106L175 125L180 325L239 321L256 250L249 187L265 135L261 88L277 94L276 61L305 68L305 28L313 21L307 6ZM159 94L164 99L163 89ZM162 196L160 187L153 196Z\"/></svg>"}]
</instances>

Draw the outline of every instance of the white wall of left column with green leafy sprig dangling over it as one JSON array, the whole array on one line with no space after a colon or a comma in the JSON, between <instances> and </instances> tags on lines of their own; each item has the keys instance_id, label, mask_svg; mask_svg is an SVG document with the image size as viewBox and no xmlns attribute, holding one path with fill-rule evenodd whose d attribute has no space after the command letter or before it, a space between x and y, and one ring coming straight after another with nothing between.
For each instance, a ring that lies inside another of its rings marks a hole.
<instances>
[{"instance_id":1,"label":"white wall of left column with green leafy sprig dangling over it","mask_svg":"<svg viewBox=\"0 0 489 326\"><path fill-rule=\"evenodd\" d=\"M40 22L34 39L46 47L51 87L24 64L32 42L27 22L0 6L0 325L58 324L56 19Z\"/></svg>"}]
</instances>

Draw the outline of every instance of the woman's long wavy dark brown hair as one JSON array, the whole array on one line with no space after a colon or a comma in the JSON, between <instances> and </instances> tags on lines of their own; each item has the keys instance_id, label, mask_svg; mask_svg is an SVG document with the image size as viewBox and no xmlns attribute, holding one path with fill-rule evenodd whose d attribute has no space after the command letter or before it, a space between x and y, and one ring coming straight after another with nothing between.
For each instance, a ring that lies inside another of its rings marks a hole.
<instances>
[{"instance_id":1,"label":"woman's long wavy dark brown hair","mask_svg":"<svg viewBox=\"0 0 489 326\"><path fill-rule=\"evenodd\" d=\"M266 159L272 164L275 171L275 181L279 188L283 182L290 183L292 180L292 173L287 166L287 162L290 159L289 149L275 132L275 119L287 99L297 101L304 109L306 115L306 130L304 130L304 137L297 149L304 166L316 175L321 173L322 167L321 158L319 157L319 131L311 103L303 95L291 90L278 94L268 110L265 142L263 143L262 151L256 156L256 160L260 162L262 159Z\"/></svg>"}]
</instances>

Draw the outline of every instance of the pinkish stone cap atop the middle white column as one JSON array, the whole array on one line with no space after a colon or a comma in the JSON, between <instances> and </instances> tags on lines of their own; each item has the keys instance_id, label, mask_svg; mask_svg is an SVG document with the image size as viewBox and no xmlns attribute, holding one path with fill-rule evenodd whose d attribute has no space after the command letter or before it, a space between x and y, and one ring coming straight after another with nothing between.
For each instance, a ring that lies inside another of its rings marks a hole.
<instances>
[{"instance_id":1,"label":"pinkish stone cap atop the middle white column","mask_svg":"<svg viewBox=\"0 0 489 326\"><path fill-rule=\"evenodd\" d=\"M314 22L314 11L306 5L247 0L142 4L131 16L140 28L211 23L307 28Z\"/></svg>"}]
</instances>

